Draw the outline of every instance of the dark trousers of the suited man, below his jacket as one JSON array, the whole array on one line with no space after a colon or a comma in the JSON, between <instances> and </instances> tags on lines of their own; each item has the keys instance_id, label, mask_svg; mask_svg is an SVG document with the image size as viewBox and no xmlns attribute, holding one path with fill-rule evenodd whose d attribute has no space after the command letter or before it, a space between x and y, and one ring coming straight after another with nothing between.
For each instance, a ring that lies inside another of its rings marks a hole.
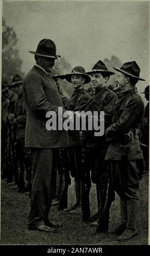
<instances>
[{"instance_id":1,"label":"dark trousers of the suited man, below his jacket","mask_svg":"<svg viewBox=\"0 0 150 256\"><path fill-rule=\"evenodd\" d=\"M46 222L55 194L57 175L57 149L33 149L33 184L29 214L29 227Z\"/></svg>"}]
</instances>

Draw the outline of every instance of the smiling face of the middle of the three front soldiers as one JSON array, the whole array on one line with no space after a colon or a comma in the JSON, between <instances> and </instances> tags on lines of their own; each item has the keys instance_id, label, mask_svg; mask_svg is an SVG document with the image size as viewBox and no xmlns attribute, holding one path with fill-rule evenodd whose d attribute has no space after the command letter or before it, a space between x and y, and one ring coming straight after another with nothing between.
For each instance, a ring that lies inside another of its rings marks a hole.
<instances>
[{"instance_id":1,"label":"smiling face of the middle of the three front soldiers","mask_svg":"<svg viewBox=\"0 0 150 256\"><path fill-rule=\"evenodd\" d=\"M102 88L105 86L105 82L107 82L106 77L104 78L101 74L101 72L96 72L91 75L92 79L92 88Z\"/></svg>"}]
</instances>

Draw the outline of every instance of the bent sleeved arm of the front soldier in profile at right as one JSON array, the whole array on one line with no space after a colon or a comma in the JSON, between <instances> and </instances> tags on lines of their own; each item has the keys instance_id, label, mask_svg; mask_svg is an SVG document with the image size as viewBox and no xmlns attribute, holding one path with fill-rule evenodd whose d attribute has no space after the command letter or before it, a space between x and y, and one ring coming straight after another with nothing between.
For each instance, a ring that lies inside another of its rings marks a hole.
<instances>
[{"instance_id":1,"label":"bent sleeved arm of the front soldier in profile at right","mask_svg":"<svg viewBox=\"0 0 150 256\"><path fill-rule=\"evenodd\" d=\"M120 115L117 123L114 123L108 127L105 132L107 141L117 138L119 135L128 133L130 129L134 127L139 118L142 117L144 111L143 101L139 98L132 98L124 111Z\"/></svg>"}]
</instances>

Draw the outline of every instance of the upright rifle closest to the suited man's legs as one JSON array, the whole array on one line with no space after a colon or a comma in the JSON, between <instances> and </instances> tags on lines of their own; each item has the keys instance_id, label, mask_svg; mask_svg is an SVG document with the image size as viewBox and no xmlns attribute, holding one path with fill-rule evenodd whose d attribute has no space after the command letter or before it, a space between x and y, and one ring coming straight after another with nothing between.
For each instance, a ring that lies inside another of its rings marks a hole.
<instances>
[{"instance_id":1,"label":"upright rifle closest to the suited man's legs","mask_svg":"<svg viewBox=\"0 0 150 256\"><path fill-rule=\"evenodd\" d=\"M58 211L67 208L68 204L68 186L71 184L70 172L68 169L68 152L65 148L59 149L59 170L60 170L60 181L59 181L59 192L58 196L60 199ZM65 180L64 180L65 176ZM65 185L64 185L65 181ZM63 190L63 191L62 191Z\"/></svg>"}]
</instances>

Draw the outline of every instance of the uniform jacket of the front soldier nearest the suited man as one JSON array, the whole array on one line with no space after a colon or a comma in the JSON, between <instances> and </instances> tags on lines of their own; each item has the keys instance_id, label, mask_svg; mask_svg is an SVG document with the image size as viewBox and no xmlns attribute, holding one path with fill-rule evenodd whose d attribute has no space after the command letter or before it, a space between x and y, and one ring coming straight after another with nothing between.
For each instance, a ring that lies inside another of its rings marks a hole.
<instances>
[{"instance_id":1,"label":"uniform jacket of the front soldier nearest the suited man","mask_svg":"<svg viewBox=\"0 0 150 256\"><path fill-rule=\"evenodd\" d=\"M74 90L70 99L68 100L65 96L62 96L65 109L76 111L76 108L79 107L80 110L83 110L83 106L89 102L90 96L85 93L84 88ZM69 144L70 145L82 145L83 142L79 138L79 131L70 131L68 130Z\"/></svg>"}]
</instances>

